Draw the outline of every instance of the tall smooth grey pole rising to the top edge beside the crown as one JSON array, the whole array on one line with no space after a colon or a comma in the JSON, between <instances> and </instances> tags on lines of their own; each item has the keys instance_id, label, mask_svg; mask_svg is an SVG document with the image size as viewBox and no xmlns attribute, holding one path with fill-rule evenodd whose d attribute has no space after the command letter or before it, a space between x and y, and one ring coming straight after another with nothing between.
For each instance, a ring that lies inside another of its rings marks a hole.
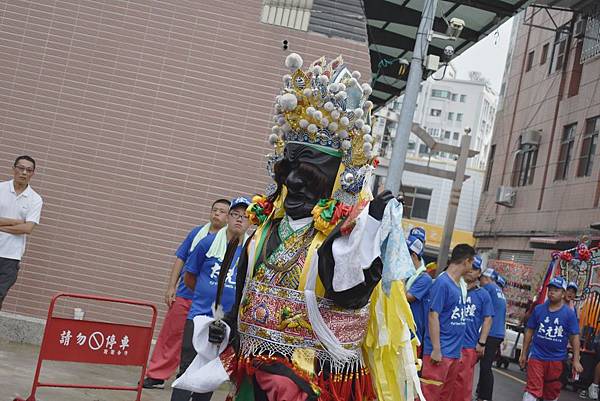
<instances>
[{"instance_id":1,"label":"tall smooth grey pole rising to the top edge beside the crown","mask_svg":"<svg viewBox=\"0 0 600 401\"><path fill-rule=\"evenodd\" d=\"M388 167L388 174L385 180L385 189L389 189L394 194L398 194L400 183L402 182L402 173L404 171L404 160L406 159L406 150L408 147L408 138L412 127L415 109L417 107L417 97L419 96L419 87L423 78L423 60L427 56L429 48L429 33L433 28L435 19L435 10L437 9L437 0L425 0L421 22L415 38L415 48L410 62L410 70L406 81L406 90L404 91L404 100L402 110L396 126L396 137L392 147L392 157Z\"/></svg>"}]
</instances>

